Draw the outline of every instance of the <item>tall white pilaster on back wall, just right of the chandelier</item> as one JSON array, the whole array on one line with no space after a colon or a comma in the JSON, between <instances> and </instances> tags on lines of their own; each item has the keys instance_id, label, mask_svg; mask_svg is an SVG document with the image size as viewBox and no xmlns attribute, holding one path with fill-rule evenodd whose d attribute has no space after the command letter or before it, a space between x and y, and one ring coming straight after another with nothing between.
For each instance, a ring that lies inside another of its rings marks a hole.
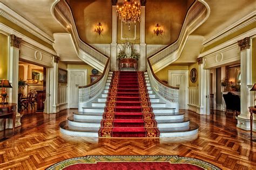
<instances>
[{"instance_id":1,"label":"tall white pilaster on back wall, just right of the chandelier","mask_svg":"<svg viewBox=\"0 0 256 170\"><path fill-rule=\"evenodd\" d=\"M146 70L145 6L140 7L140 59L139 59L139 70L142 70L142 71Z\"/></svg>"}]
</instances>

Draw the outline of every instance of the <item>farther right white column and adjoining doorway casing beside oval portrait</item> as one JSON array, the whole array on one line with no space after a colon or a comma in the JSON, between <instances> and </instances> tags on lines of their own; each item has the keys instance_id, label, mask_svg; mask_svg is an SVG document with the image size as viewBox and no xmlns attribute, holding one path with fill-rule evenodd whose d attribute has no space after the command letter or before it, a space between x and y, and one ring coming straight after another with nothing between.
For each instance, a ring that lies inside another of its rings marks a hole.
<instances>
[{"instance_id":1,"label":"farther right white column and adjoining doorway casing beside oval portrait","mask_svg":"<svg viewBox=\"0 0 256 170\"><path fill-rule=\"evenodd\" d=\"M210 115L210 70L204 69L203 58L198 58L198 105L197 114Z\"/></svg>"}]
</instances>

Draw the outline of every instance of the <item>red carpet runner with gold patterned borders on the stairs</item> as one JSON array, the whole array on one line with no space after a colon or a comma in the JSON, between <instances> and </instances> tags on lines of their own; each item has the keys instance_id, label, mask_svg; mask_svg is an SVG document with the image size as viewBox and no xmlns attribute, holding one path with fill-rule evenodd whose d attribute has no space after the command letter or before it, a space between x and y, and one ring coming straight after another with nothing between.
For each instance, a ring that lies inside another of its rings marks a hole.
<instances>
[{"instance_id":1,"label":"red carpet runner with gold patterned borders on the stairs","mask_svg":"<svg viewBox=\"0 0 256 170\"><path fill-rule=\"evenodd\" d=\"M144 72L114 72L99 137L159 137Z\"/></svg>"}]
</instances>

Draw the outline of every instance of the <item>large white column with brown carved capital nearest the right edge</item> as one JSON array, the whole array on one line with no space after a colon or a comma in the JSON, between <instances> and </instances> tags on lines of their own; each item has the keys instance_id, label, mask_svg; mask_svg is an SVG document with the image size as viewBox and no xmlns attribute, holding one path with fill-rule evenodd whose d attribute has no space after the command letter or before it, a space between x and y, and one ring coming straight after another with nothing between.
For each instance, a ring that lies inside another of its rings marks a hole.
<instances>
[{"instance_id":1,"label":"large white column with brown carved capital nearest the right edge","mask_svg":"<svg viewBox=\"0 0 256 170\"><path fill-rule=\"evenodd\" d=\"M249 90L252 84L252 55L251 55L251 39L246 37L238 41L240 46L240 56L241 56L241 113L238 115L237 127L250 130L250 112L248 107L253 105L253 93Z\"/></svg>"}]
</instances>

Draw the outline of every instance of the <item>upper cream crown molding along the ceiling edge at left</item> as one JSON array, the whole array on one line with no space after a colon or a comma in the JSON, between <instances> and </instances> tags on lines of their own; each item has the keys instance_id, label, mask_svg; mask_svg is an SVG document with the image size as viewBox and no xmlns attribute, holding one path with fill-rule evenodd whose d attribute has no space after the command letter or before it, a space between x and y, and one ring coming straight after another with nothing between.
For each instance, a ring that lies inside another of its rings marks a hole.
<instances>
[{"instance_id":1,"label":"upper cream crown molding along the ceiling edge at left","mask_svg":"<svg viewBox=\"0 0 256 170\"><path fill-rule=\"evenodd\" d=\"M0 16L10 20L12 23L22 27L24 30L30 32L34 36L42 39L48 44L52 45L54 39L46 34L44 31L39 29L37 26L33 25L31 22L20 16L15 11L11 10L8 6L0 2Z\"/></svg>"}]
</instances>

